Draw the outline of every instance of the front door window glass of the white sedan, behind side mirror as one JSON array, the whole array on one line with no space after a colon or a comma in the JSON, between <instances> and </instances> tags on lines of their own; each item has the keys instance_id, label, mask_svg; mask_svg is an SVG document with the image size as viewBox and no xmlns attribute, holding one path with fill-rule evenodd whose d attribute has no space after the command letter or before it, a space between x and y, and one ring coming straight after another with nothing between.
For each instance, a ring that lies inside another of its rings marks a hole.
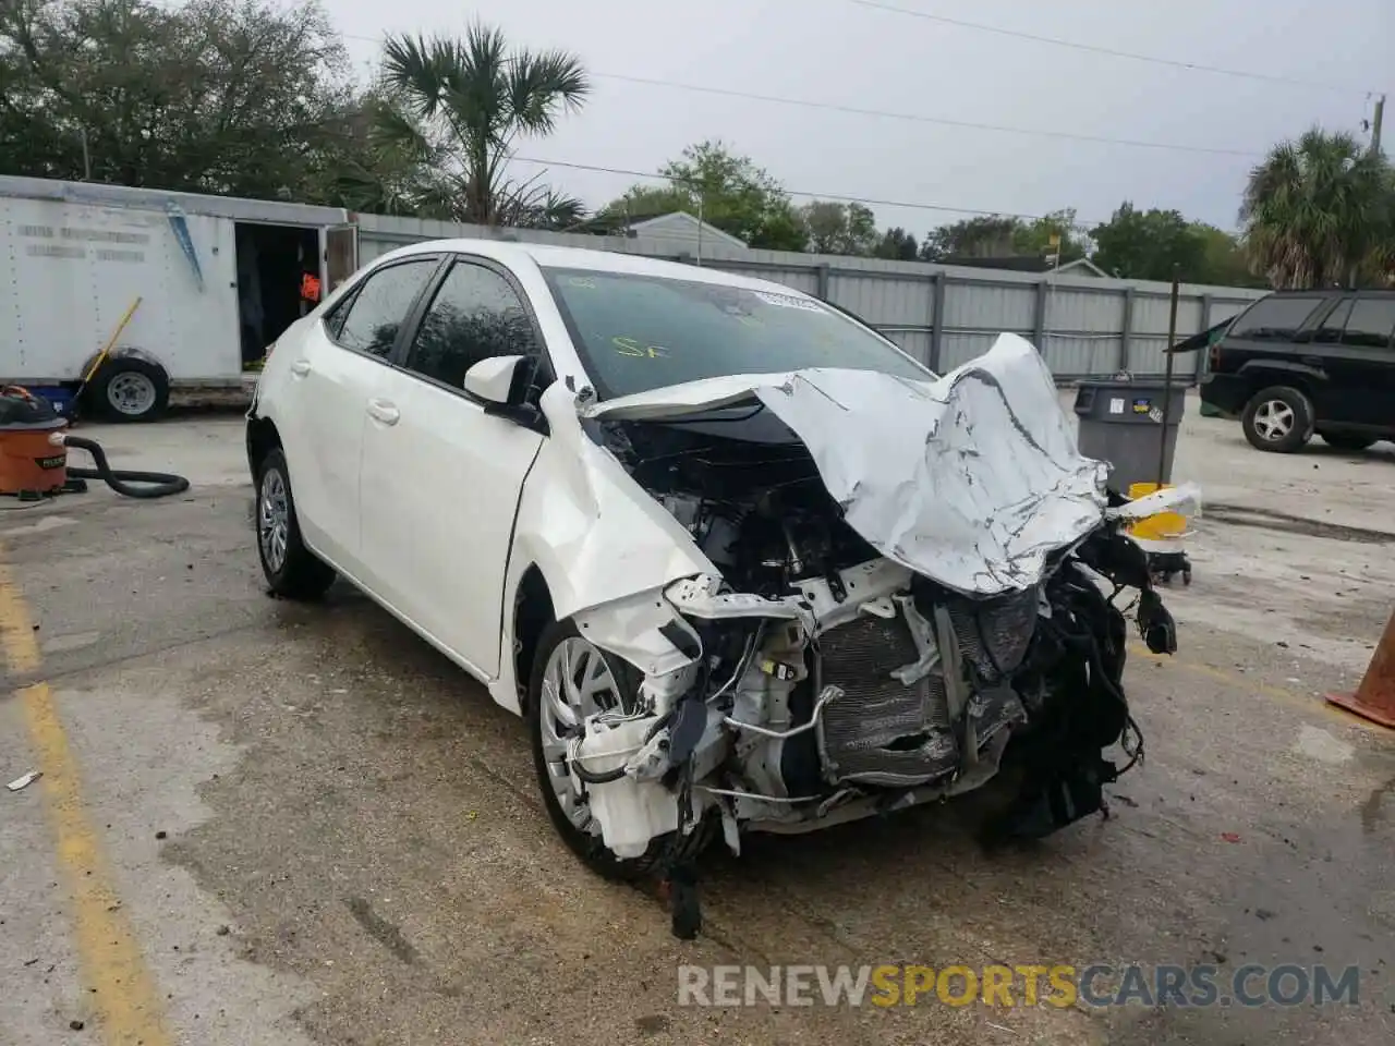
<instances>
[{"instance_id":1,"label":"front door window glass of the white sedan, behind side mirror","mask_svg":"<svg viewBox=\"0 0 1395 1046\"><path fill-rule=\"evenodd\" d=\"M523 301L504 276L456 262L421 318L407 370L459 389L465 372L491 356L538 356Z\"/></svg>"}]
</instances>

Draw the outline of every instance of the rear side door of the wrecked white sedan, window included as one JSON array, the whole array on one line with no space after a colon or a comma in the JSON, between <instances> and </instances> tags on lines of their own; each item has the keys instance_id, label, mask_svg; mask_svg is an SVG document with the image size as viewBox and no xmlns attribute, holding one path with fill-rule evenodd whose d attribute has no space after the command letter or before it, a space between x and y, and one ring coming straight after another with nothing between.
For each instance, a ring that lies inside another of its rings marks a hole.
<instances>
[{"instance_id":1,"label":"rear side door of the wrecked white sedan, window included","mask_svg":"<svg viewBox=\"0 0 1395 1046\"><path fill-rule=\"evenodd\" d=\"M439 255L412 255L374 269L301 338L278 349L292 356L278 389L296 516L312 548L357 576L359 467L368 400Z\"/></svg>"}]
</instances>

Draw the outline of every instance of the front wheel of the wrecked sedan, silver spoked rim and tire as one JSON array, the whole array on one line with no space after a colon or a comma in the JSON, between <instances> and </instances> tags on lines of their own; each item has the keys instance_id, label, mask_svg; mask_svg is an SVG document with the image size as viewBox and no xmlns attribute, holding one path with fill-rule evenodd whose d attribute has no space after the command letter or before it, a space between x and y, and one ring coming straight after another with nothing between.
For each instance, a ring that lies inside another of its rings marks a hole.
<instances>
[{"instance_id":1,"label":"front wheel of the wrecked sedan, silver spoked rim and tire","mask_svg":"<svg viewBox=\"0 0 1395 1046\"><path fill-rule=\"evenodd\" d=\"M619 858L601 838L585 792L572 780L568 745L580 736L587 715L635 708L636 669L585 639L571 621L543 632L529 681L527 721L543 806L566 847L607 879L636 880L661 874L675 859L692 859L710 840L704 820L692 834L654 838L638 858Z\"/></svg>"}]
</instances>

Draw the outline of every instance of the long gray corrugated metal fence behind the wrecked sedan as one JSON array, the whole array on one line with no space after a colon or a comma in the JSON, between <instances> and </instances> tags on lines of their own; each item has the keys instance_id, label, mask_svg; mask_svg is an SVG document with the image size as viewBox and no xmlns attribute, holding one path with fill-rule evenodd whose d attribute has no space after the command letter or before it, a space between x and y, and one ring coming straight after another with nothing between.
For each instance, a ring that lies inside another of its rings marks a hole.
<instances>
[{"instance_id":1,"label":"long gray corrugated metal fence behind the wrecked sedan","mask_svg":"<svg viewBox=\"0 0 1395 1046\"><path fill-rule=\"evenodd\" d=\"M484 229L412 218L359 215L360 259L371 261L406 243L442 237L516 238L566 247L699 259L643 238ZM1031 340L1057 378L1087 374L1162 374L1170 287L1147 280L1053 276L970 269L877 258L704 250L704 266L795 287L859 315L933 370L947 371L986 351L1004 331ZM1184 285L1177 301L1177 339L1236 315L1265 294L1242 287ZM1200 372L1202 360L1177 368Z\"/></svg>"}]
</instances>

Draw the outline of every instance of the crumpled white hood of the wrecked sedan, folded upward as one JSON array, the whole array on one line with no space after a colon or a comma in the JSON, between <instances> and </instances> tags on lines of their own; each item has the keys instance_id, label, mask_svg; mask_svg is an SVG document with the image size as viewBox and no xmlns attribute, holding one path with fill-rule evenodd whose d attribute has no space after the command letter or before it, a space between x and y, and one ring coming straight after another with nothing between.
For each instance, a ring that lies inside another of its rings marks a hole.
<instances>
[{"instance_id":1,"label":"crumpled white hood of the wrecked sedan, folded upward","mask_svg":"<svg viewBox=\"0 0 1395 1046\"><path fill-rule=\"evenodd\" d=\"M1105 519L1108 466L1080 455L1050 371L1017 335L926 382L834 368L746 374L579 413L674 418L751 396L809 448L855 531L957 591L1027 589L1049 554Z\"/></svg>"}]
</instances>

